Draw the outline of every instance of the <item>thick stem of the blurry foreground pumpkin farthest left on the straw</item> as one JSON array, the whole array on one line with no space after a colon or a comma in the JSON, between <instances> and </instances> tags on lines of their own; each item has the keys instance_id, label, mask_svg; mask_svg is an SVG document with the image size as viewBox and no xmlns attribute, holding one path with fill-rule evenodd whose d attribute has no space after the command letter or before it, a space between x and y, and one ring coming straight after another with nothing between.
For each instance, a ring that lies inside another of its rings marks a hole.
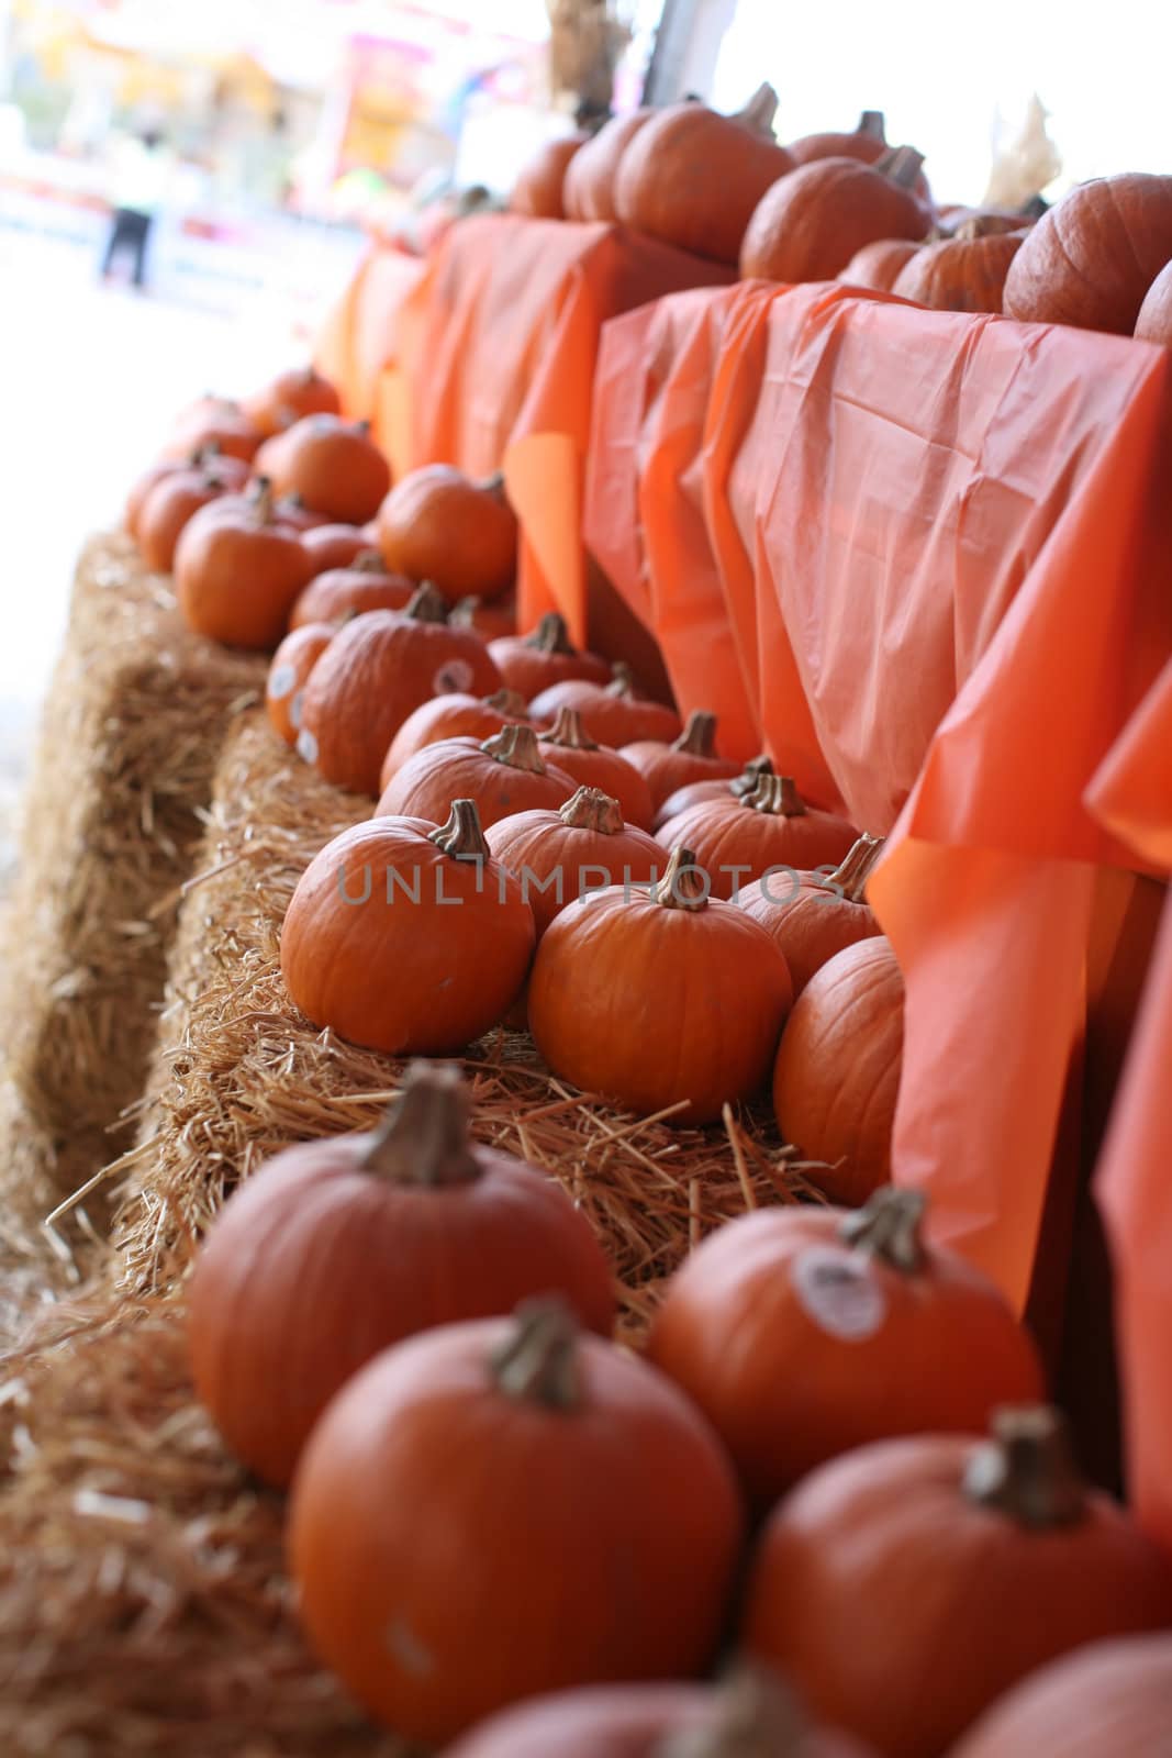
<instances>
[{"instance_id":1,"label":"thick stem of the blurry foreground pumpkin farthest left on the straw","mask_svg":"<svg viewBox=\"0 0 1172 1758\"><path fill-rule=\"evenodd\" d=\"M387 1109L362 1169L392 1183L445 1190L480 1178L471 1151L467 1086L452 1062L411 1062L402 1093Z\"/></svg>"}]
</instances>

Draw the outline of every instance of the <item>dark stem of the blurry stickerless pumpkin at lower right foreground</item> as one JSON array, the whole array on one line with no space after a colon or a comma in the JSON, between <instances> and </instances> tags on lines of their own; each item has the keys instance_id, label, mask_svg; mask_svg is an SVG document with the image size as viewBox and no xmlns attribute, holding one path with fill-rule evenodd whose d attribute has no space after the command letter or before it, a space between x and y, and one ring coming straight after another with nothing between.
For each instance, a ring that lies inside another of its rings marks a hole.
<instances>
[{"instance_id":1,"label":"dark stem of the blurry stickerless pumpkin at lower right foreground","mask_svg":"<svg viewBox=\"0 0 1172 1758\"><path fill-rule=\"evenodd\" d=\"M998 1508L1035 1531L1079 1521L1086 1484L1074 1463L1061 1410L1010 1405L993 1412L991 1429L991 1438L975 1449L965 1470L961 1487L968 1500Z\"/></svg>"}]
</instances>

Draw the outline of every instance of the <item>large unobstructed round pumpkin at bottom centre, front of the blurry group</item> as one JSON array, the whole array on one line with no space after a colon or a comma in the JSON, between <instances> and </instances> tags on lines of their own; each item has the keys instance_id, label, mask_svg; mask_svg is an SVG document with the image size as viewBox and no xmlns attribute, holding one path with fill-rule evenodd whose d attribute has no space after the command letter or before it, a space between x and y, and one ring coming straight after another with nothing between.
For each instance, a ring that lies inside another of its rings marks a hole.
<instances>
[{"instance_id":1,"label":"large unobstructed round pumpkin at bottom centre, front of the blurry group","mask_svg":"<svg viewBox=\"0 0 1172 1758\"><path fill-rule=\"evenodd\" d=\"M534 1303L355 1375L302 1456L290 1558L322 1660L441 1744L539 1691L701 1672L742 1535L685 1398Z\"/></svg>"}]
</instances>

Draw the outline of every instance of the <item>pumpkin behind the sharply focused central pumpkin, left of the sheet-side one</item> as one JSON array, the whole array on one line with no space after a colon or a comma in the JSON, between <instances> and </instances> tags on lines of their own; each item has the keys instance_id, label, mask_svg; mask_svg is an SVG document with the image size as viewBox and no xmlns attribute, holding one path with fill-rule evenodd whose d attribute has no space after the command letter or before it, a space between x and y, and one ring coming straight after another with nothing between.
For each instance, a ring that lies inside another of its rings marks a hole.
<instances>
[{"instance_id":1,"label":"pumpkin behind the sharply focused central pumpkin, left of the sheet-side one","mask_svg":"<svg viewBox=\"0 0 1172 1758\"><path fill-rule=\"evenodd\" d=\"M857 832L833 812L808 807L789 775L759 775L752 793L687 807L655 835L666 847L687 842L708 872L712 895L729 898L771 868L840 861Z\"/></svg>"}]
</instances>

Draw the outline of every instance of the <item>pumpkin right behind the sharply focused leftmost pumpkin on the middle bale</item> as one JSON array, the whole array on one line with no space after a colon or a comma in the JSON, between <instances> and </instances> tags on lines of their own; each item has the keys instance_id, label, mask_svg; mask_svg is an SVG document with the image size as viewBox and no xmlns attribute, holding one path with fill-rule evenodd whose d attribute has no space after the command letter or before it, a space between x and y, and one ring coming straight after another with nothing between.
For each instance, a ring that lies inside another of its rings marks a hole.
<instances>
[{"instance_id":1,"label":"pumpkin right behind the sharply focused leftmost pumpkin on the middle bale","mask_svg":"<svg viewBox=\"0 0 1172 1758\"><path fill-rule=\"evenodd\" d=\"M374 810L439 821L452 800L474 800L487 830L515 812L564 805L573 791L569 775L546 768L532 726L504 726L485 740L441 738L416 751Z\"/></svg>"}]
</instances>

